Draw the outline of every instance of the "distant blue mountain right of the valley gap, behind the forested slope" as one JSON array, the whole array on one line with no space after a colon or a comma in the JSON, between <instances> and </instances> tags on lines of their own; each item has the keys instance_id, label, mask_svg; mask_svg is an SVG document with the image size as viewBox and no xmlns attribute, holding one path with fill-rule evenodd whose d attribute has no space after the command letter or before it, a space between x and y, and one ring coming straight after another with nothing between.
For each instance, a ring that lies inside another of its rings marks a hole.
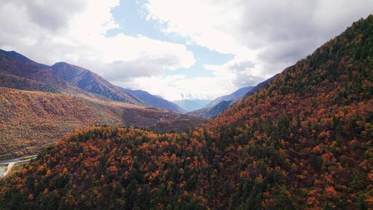
<instances>
[{"instance_id":1,"label":"distant blue mountain right of the valley gap, behind the forested slope","mask_svg":"<svg viewBox=\"0 0 373 210\"><path fill-rule=\"evenodd\" d=\"M229 107L233 106L240 102L244 97L252 95L256 93L260 88L267 86L271 81L276 78L277 75L265 80L265 82L261 82L256 86L248 86L245 88L240 88L236 90L231 95L224 95L222 97L218 97L214 99L211 103L209 103L205 108L201 108L195 111L191 111L187 113L187 115L192 115L195 117L202 117L204 119L211 119L216 117L226 111ZM218 103L218 104L216 104ZM215 105L214 105L215 104Z\"/></svg>"}]
</instances>

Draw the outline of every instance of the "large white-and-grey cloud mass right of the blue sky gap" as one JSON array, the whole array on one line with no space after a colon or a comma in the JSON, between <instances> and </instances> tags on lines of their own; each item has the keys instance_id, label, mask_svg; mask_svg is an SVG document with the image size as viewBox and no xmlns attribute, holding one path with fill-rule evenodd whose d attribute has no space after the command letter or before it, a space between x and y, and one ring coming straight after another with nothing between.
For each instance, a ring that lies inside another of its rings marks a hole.
<instances>
[{"instance_id":1,"label":"large white-and-grey cloud mass right of the blue sky gap","mask_svg":"<svg viewBox=\"0 0 373 210\"><path fill-rule=\"evenodd\" d=\"M235 58L207 65L237 88L257 84L312 53L372 12L373 1L213 1L149 0L149 19L176 33ZM234 66L253 64L237 70Z\"/></svg>"}]
</instances>

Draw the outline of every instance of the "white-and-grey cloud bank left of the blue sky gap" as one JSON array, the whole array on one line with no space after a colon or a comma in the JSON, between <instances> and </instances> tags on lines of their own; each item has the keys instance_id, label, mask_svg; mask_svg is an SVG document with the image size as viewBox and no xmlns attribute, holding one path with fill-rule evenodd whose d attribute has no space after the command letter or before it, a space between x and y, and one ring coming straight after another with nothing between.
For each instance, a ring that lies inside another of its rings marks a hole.
<instances>
[{"instance_id":1,"label":"white-and-grey cloud bank left of the blue sky gap","mask_svg":"<svg viewBox=\"0 0 373 210\"><path fill-rule=\"evenodd\" d=\"M161 75L165 68L188 68L194 55L181 44L119 33L111 1L5 1L0 5L0 48L39 61L67 61L111 80Z\"/></svg>"}]
</instances>

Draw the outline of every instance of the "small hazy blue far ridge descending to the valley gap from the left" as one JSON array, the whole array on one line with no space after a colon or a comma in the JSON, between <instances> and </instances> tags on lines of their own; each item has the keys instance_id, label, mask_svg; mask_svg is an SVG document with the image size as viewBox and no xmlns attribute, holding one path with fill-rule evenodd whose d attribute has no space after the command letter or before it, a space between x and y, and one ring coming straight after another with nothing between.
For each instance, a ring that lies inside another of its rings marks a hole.
<instances>
[{"instance_id":1,"label":"small hazy blue far ridge descending to the valley gap from the left","mask_svg":"<svg viewBox=\"0 0 373 210\"><path fill-rule=\"evenodd\" d=\"M166 99L163 99L162 97L159 97L157 95L151 95L150 93L144 90L131 90L128 88L124 88L124 91L130 93L131 95L134 95L135 97L140 99L145 104L148 104L149 106L153 106L156 108L164 108L166 110L174 111L176 113L185 113L185 111L180 106L178 106L178 104L169 102Z\"/></svg>"}]
</instances>

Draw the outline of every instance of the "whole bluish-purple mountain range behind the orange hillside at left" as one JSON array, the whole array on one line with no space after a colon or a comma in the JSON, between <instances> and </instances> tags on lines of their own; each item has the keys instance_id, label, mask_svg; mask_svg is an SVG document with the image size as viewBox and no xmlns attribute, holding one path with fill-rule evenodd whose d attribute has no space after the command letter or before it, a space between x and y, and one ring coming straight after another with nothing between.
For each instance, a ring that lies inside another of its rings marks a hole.
<instances>
[{"instance_id":1,"label":"whole bluish-purple mountain range behind the orange hillside at left","mask_svg":"<svg viewBox=\"0 0 373 210\"><path fill-rule=\"evenodd\" d=\"M8 75L0 75L1 86L52 93L76 93L84 90L113 101L164 108L178 113L184 112L178 105L151 95L144 90L131 90L115 86L86 68L66 62L57 62L52 66L37 64L15 51L0 50L0 54L2 67L0 73L8 73ZM14 61L10 59L18 61L19 64L15 65ZM21 66L21 68L13 69L12 66ZM17 77L23 79L17 79ZM31 79L32 81L25 79ZM5 84L5 82L8 84Z\"/></svg>"}]
</instances>

